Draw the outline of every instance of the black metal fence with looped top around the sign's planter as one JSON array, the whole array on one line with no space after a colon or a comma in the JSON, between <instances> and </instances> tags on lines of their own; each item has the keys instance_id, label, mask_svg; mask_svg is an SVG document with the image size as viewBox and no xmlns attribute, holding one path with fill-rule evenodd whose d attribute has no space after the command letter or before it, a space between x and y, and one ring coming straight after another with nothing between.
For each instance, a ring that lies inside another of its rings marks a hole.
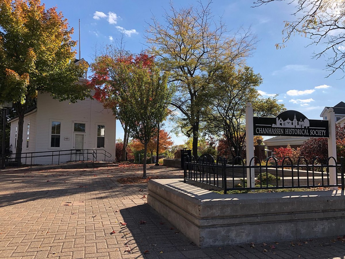
<instances>
[{"instance_id":1,"label":"black metal fence with looped top around the sign's planter","mask_svg":"<svg viewBox=\"0 0 345 259\"><path fill-rule=\"evenodd\" d=\"M193 181L204 183L210 189L223 190L224 193L231 190L317 187L341 187L344 190L343 157L339 161L329 157L325 164L319 157L315 157L311 163L308 163L305 157L300 157L295 164L289 157L284 157L281 165L273 156L268 157L264 165L254 165L253 157L249 166L245 165L241 157L235 157L231 163L227 163L224 157L218 157L217 160L210 157L185 157L184 182L188 180L192 184ZM234 161L240 161L240 164L234 164ZM273 162L273 165L269 161ZM331 171L335 171L333 183L330 180Z\"/></svg>"}]
</instances>

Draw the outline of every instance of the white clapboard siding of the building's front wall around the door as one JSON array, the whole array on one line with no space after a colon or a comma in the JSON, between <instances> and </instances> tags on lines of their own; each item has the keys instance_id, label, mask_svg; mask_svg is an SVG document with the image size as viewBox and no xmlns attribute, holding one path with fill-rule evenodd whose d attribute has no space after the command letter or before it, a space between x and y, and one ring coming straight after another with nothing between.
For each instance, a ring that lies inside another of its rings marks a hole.
<instances>
[{"instance_id":1,"label":"white clapboard siding of the building's front wall around the door","mask_svg":"<svg viewBox=\"0 0 345 259\"><path fill-rule=\"evenodd\" d=\"M89 152L95 149L105 149L115 158L115 132L116 121L111 110L103 108L96 100L83 100L70 104L68 101L59 102L52 99L49 94L38 94L37 97L37 140L36 151L59 151L75 149L75 134L82 134L83 149ZM60 147L51 147L51 123L60 122ZM85 124L85 133L75 133L74 123ZM105 147L97 148L97 125L105 125ZM64 139L69 140L64 140ZM58 154L58 152L55 152ZM63 153L63 152L60 152ZM70 156L61 156L60 163L71 159ZM74 156L75 159L75 156ZM81 156L82 159L82 156ZM92 160L92 155L85 155L85 160ZM104 155L98 155L97 160L104 159ZM73 160L73 157L72 157ZM79 156L77 157L79 160ZM58 156L54 157L54 163L58 162ZM51 163L51 157L37 158L36 163Z\"/></svg>"}]
</instances>

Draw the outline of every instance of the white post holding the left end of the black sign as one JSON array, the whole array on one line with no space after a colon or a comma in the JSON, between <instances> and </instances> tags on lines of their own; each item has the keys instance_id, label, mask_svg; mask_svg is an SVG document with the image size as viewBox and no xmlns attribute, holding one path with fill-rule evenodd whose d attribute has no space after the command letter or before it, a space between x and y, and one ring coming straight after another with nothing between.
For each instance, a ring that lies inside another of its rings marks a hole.
<instances>
[{"instance_id":1,"label":"white post holding the left end of the black sign","mask_svg":"<svg viewBox=\"0 0 345 259\"><path fill-rule=\"evenodd\" d=\"M254 125L253 125L253 107L251 103L247 103L246 107L246 150L247 150L247 165L250 160L254 157ZM255 165L253 159L252 165ZM251 176L251 177L250 177ZM255 174L254 168L247 169L247 186L250 186L250 179L252 180L252 187L255 186Z\"/></svg>"}]
</instances>

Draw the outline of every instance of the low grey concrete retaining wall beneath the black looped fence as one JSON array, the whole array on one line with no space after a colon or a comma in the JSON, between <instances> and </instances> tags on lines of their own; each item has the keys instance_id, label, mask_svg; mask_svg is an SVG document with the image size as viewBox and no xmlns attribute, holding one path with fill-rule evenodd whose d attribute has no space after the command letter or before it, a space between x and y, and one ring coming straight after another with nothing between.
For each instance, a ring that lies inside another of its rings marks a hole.
<instances>
[{"instance_id":1,"label":"low grey concrete retaining wall beneath the black looped fence","mask_svg":"<svg viewBox=\"0 0 345 259\"><path fill-rule=\"evenodd\" d=\"M344 191L217 194L148 182L148 204L199 247L343 235Z\"/></svg>"}]
</instances>

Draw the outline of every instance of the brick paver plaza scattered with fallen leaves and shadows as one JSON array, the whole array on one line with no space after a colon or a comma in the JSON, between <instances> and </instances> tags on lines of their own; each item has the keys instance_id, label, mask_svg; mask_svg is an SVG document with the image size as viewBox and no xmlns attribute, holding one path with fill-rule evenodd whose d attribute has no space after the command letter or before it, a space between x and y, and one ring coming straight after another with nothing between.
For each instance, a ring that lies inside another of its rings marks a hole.
<instances>
[{"instance_id":1,"label":"brick paver plaza scattered with fallen leaves and shadows","mask_svg":"<svg viewBox=\"0 0 345 259\"><path fill-rule=\"evenodd\" d=\"M182 176L152 168L149 176ZM337 237L199 249L146 204L147 184L116 181L140 175L114 167L0 171L0 258L345 258Z\"/></svg>"}]
</instances>

